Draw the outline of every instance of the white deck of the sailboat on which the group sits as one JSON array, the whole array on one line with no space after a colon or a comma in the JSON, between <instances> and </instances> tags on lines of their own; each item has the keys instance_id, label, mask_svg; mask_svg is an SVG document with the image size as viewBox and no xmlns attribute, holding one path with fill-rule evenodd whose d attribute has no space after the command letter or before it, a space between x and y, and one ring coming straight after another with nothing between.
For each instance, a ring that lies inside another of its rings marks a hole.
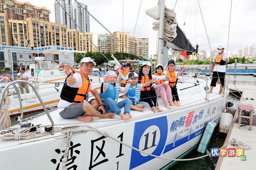
<instances>
[{"instance_id":1,"label":"white deck of the sailboat on which the group sits","mask_svg":"<svg viewBox=\"0 0 256 170\"><path fill-rule=\"evenodd\" d=\"M188 80L190 81L190 80ZM178 93L179 93L179 98L180 98L180 102L181 102L181 107L172 107L172 109L168 110L167 108L164 107L164 103L162 102L161 97L158 98L158 104L159 107L164 110L164 112L160 112L160 113L153 113L149 107L149 105L144 109L144 112L139 112L139 111L135 111L135 110L131 110L131 115L132 115L132 119L130 120L121 120L120 116L115 116L114 119L101 119L99 117L94 117L93 122L90 123L85 123L85 124L90 124L96 128L99 129L104 129L106 127L109 126L117 126L118 124L123 124L126 122L135 122L138 120L146 120L148 118L154 118L156 116L159 115L167 115L170 112L173 112L173 114L180 112L184 109L187 109L188 107L194 107L195 105L203 105L203 104L208 104L208 101L205 101L205 81L204 80L200 80L200 85L198 86L194 86L185 90L180 91L179 89L182 89L184 87L189 87L191 86L191 84L189 83L179 83L179 85L177 85L178 87ZM209 84L208 84L209 86ZM220 95L218 94L219 92L219 86L216 86L213 89L213 93L209 95L209 99L211 101L213 100L221 100ZM121 95L121 94L120 94ZM193 97L194 96L194 97ZM197 96L197 97L196 97ZM200 97L199 97L200 96ZM90 99L89 99L90 100ZM122 99L119 98L119 102ZM122 109L122 111L124 111L124 108ZM60 115L58 114L58 111L52 111L50 112L50 115L52 117L52 120L54 122L55 127L67 127L67 126L72 126L72 125L76 125L78 123L84 123L84 122L80 122L77 120L77 118L73 118L73 119L63 119L60 117ZM28 122L32 122L34 125L39 125L41 124L41 126L46 126L46 125L51 125L50 120L48 119L47 115L41 115L38 116L36 118L34 118L32 121L28 120ZM22 124L24 124L25 122L23 122ZM15 125L12 126L12 128L19 128L20 125ZM56 132L54 133L54 135L46 135L43 137L37 137L35 139L22 139L20 141L4 141L2 139L0 139L0 149L4 149L4 148L8 148L17 144L24 144L24 143L29 143L29 142L33 142L36 140L42 140L42 139L50 139L50 138L56 138L56 137L64 137L65 134L61 133L61 132Z\"/></svg>"}]
</instances>

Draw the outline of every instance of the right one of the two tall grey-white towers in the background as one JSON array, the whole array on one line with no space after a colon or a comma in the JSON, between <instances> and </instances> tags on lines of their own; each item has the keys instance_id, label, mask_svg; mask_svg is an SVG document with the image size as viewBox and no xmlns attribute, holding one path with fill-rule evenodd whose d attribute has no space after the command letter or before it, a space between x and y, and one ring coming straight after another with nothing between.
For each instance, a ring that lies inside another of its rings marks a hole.
<instances>
[{"instance_id":1,"label":"right one of the two tall grey-white towers in the background","mask_svg":"<svg viewBox=\"0 0 256 170\"><path fill-rule=\"evenodd\" d=\"M85 10L84 10L85 9ZM88 6L85 4L77 4L76 2L73 3L73 16L76 24L81 28L79 29L78 26L75 24L75 28L78 29L79 32L90 32L90 20L88 12Z\"/></svg>"}]
</instances>

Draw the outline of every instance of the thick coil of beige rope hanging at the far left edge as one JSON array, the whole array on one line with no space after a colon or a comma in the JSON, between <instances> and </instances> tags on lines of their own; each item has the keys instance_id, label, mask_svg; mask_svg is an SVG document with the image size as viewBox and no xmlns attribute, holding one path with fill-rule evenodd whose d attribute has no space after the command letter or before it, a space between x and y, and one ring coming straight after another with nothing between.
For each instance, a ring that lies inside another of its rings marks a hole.
<instances>
[{"instance_id":1,"label":"thick coil of beige rope hanging at the far left edge","mask_svg":"<svg viewBox=\"0 0 256 170\"><path fill-rule=\"evenodd\" d=\"M9 116L9 106L11 104L11 100L9 96L4 96L4 103L1 106L0 111L0 129L5 129L11 127L11 120Z\"/></svg>"}]
</instances>

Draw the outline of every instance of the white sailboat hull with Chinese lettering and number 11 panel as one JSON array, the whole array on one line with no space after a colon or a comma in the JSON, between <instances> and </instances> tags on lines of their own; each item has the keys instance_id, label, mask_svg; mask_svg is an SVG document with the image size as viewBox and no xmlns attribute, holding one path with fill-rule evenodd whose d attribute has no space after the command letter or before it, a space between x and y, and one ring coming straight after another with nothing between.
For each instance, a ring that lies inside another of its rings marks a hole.
<instances>
[{"instance_id":1,"label":"white sailboat hull with Chinese lettering and number 11 panel","mask_svg":"<svg viewBox=\"0 0 256 170\"><path fill-rule=\"evenodd\" d=\"M211 101L210 108L208 101L201 100L195 105L137 116L129 121L95 122L92 125L144 152L179 158L200 142L210 119L219 121L225 101L226 96L218 97ZM56 114L52 112L51 116L58 116ZM39 123L36 119L33 121ZM18 145L2 145L0 169L61 169L66 147L64 136L56 132L31 141L21 140ZM71 141L66 164L70 169L164 169L174 163L134 151L97 132L73 135Z\"/></svg>"}]
</instances>

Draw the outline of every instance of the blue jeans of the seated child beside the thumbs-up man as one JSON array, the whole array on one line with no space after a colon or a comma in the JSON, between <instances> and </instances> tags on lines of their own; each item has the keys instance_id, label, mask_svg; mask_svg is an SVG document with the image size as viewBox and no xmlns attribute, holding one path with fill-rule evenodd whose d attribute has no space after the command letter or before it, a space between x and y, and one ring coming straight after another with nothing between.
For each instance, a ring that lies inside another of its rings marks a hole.
<instances>
[{"instance_id":1,"label":"blue jeans of the seated child beside the thumbs-up man","mask_svg":"<svg viewBox=\"0 0 256 170\"><path fill-rule=\"evenodd\" d=\"M116 113L116 115L120 115L121 108L124 107L124 114L126 113L130 114L131 102L130 102L130 99L124 99L116 104L113 99L107 98L104 102L104 107L105 107L106 113L113 112L113 113Z\"/></svg>"}]
</instances>

